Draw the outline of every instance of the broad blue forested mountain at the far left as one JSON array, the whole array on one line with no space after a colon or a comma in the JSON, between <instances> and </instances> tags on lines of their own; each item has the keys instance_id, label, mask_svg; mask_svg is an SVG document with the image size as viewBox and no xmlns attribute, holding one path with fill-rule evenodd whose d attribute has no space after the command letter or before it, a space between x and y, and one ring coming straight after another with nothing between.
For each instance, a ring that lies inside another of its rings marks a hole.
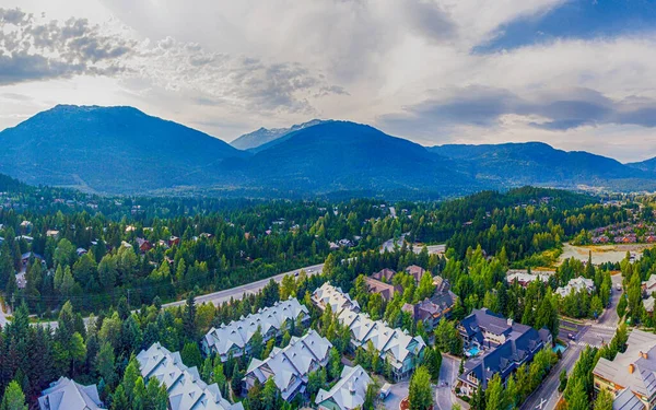
<instances>
[{"instance_id":1,"label":"broad blue forested mountain at the far left","mask_svg":"<svg viewBox=\"0 0 656 410\"><path fill-rule=\"evenodd\" d=\"M245 155L132 107L58 105L0 132L0 173L98 192L231 184L232 176L216 169Z\"/></svg>"}]
</instances>

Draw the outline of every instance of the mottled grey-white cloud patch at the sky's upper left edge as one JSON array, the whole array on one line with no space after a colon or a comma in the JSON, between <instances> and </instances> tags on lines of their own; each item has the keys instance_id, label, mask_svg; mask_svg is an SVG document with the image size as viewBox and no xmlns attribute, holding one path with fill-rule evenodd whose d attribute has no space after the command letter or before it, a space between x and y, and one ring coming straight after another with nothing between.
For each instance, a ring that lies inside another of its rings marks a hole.
<instances>
[{"instance_id":1,"label":"mottled grey-white cloud patch at the sky's upper left edge","mask_svg":"<svg viewBox=\"0 0 656 410\"><path fill-rule=\"evenodd\" d=\"M112 75L136 43L101 33L85 19L37 23L20 9L0 9L0 85Z\"/></svg>"}]
</instances>

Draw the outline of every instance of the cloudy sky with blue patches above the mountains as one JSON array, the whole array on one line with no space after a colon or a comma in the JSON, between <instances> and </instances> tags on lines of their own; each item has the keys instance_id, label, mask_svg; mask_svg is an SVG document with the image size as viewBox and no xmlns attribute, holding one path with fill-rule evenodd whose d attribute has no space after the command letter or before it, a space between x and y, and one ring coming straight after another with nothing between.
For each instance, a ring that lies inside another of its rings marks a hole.
<instances>
[{"instance_id":1,"label":"cloudy sky with blue patches above the mountains","mask_svg":"<svg viewBox=\"0 0 656 410\"><path fill-rule=\"evenodd\" d=\"M632 162L655 73L656 0L0 0L0 129L130 105L225 141L331 118Z\"/></svg>"}]
</instances>

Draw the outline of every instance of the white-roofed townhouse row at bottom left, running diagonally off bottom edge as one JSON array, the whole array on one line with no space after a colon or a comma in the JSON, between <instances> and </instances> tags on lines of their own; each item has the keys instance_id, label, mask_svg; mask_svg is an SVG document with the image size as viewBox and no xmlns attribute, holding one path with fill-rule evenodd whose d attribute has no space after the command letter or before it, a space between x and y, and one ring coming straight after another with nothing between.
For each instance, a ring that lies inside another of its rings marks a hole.
<instances>
[{"instance_id":1,"label":"white-roofed townhouse row at bottom left, running diagonally off bottom edge","mask_svg":"<svg viewBox=\"0 0 656 410\"><path fill-rule=\"evenodd\" d=\"M242 403L231 405L221 396L219 386L206 384L197 367L187 367L180 353L169 352L160 343L137 355L144 380L155 377L166 385L171 410L243 410Z\"/></svg>"}]
</instances>

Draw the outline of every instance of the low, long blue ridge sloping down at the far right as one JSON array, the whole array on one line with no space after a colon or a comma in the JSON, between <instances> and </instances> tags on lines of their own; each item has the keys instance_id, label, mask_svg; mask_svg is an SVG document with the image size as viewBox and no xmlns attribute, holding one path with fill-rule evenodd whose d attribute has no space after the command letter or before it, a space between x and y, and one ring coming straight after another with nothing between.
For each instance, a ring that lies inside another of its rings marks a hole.
<instances>
[{"instance_id":1,"label":"low, long blue ridge sloping down at the far right","mask_svg":"<svg viewBox=\"0 0 656 410\"><path fill-rule=\"evenodd\" d=\"M501 186L604 185L609 181L654 179L648 172L583 151L557 150L542 142L503 144L447 144L430 152L460 163L460 168L478 180Z\"/></svg>"}]
</instances>

